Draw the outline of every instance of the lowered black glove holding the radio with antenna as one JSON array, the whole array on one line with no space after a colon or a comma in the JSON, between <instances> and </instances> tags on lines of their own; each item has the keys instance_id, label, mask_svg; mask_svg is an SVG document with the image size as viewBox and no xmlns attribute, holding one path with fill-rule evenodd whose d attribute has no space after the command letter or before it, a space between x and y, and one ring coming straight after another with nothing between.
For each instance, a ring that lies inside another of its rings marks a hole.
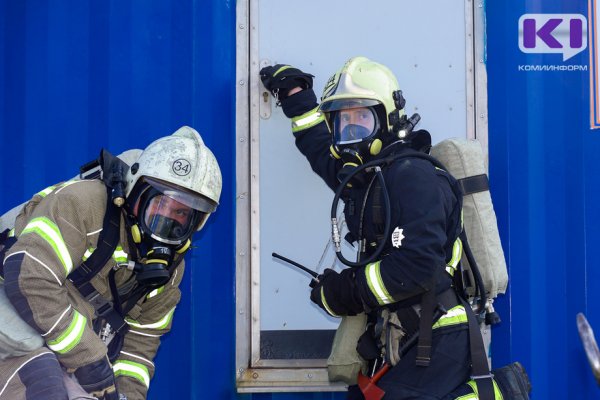
<instances>
[{"instance_id":1,"label":"lowered black glove holding the radio with antenna","mask_svg":"<svg viewBox=\"0 0 600 400\"><path fill-rule=\"evenodd\" d=\"M327 268L317 277L318 283L312 280L310 299L328 314L334 317L356 315L364 311L362 301L356 290L354 270L347 268L341 273Z\"/></svg>"}]
</instances>

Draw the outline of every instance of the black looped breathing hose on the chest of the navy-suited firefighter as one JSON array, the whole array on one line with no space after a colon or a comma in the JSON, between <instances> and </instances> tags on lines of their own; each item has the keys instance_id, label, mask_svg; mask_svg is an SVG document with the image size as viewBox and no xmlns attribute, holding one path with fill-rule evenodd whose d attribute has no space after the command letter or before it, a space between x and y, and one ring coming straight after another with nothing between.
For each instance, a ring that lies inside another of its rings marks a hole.
<instances>
[{"instance_id":1,"label":"black looped breathing hose on the chest of the navy-suited firefighter","mask_svg":"<svg viewBox=\"0 0 600 400\"><path fill-rule=\"evenodd\" d=\"M381 252L383 251L383 247L385 246L385 239L390 234L390 225L391 225L391 222L390 222L390 219L391 219L390 196L388 195L387 187L385 186L385 180L383 179L383 174L381 172L381 165L391 162L391 161L393 161L393 159L394 159L393 157L390 157L390 158L386 158L386 159L373 160L366 164L359 165L358 167L356 167L354 169L354 171L349 173L340 182L340 184L338 185L338 188L335 191L335 196L333 197L333 203L331 204L331 237L333 240L333 244L335 247L335 254L336 254L337 258L343 264L345 264L349 267L362 267L362 266L365 266L367 264L370 264L370 263L376 261L379 258L379 256L381 255ZM358 174L368 168L374 169L375 174L377 176L377 180L379 181L379 184L381 185L381 190L383 191L385 228L383 231L383 239L381 240L380 243L377 244L377 248L375 249L375 252L373 252L373 254L371 254L371 256L369 256L368 258L366 258L364 260L352 262L350 260L347 260L344 257L344 255L342 254L342 247L341 247L342 237L340 235L340 230L338 228L336 213L337 213L338 204L340 202L340 198L342 196L342 192L344 191L344 188L346 187L348 182L350 182L350 180L356 174Z\"/></svg>"}]
</instances>

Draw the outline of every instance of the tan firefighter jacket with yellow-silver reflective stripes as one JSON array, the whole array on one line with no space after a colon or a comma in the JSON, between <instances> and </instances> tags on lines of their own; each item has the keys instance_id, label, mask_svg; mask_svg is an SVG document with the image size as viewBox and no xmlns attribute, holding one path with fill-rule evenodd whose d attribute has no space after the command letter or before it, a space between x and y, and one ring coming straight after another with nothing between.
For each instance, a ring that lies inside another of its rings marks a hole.
<instances>
[{"instance_id":1,"label":"tan firefighter jacket with yellow-silver reflective stripes","mask_svg":"<svg viewBox=\"0 0 600 400\"><path fill-rule=\"evenodd\" d=\"M106 345L92 327L94 307L67 279L97 247L106 204L107 191L100 180L67 182L38 193L17 217L17 241L4 259L6 292L16 310L70 372L107 355ZM106 299L112 298L109 272L136 254L127 245L123 221L119 243L112 259L91 280ZM183 271L181 262L171 280L142 297L125 318L130 329L112 366L118 390L129 400L146 398L154 375L152 360L160 337L171 328L181 296ZM117 287L134 280L132 274L118 269Z\"/></svg>"}]
</instances>

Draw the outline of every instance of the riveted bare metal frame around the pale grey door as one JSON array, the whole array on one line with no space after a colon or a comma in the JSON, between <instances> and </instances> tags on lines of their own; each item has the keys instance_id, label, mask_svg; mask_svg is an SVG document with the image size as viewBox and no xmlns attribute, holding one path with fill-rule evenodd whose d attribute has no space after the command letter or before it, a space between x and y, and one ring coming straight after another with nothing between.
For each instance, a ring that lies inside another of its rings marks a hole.
<instances>
[{"instance_id":1,"label":"riveted bare metal frame around the pale grey door","mask_svg":"<svg viewBox=\"0 0 600 400\"><path fill-rule=\"evenodd\" d=\"M260 358L258 2L238 0L236 23L236 384L238 392L340 391L326 360ZM467 137L487 149L483 0L465 0Z\"/></svg>"}]
</instances>

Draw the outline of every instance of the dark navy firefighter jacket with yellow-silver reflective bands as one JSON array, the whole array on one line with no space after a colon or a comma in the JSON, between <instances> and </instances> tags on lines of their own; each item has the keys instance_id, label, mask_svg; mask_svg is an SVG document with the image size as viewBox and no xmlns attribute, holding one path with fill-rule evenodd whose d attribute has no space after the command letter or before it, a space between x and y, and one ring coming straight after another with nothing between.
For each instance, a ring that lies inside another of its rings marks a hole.
<instances>
[{"instance_id":1,"label":"dark navy firefighter jacket with yellow-silver reflective bands","mask_svg":"<svg viewBox=\"0 0 600 400\"><path fill-rule=\"evenodd\" d=\"M302 109L298 102L302 102L300 96L303 92L294 95L299 96L296 103L292 103L294 96L284 100L286 115L290 116L290 109L295 114ZM288 103L285 104L285 101ZM315 106L310 104L307 110L307 102L302 114L292 116L292 131L297 148L308 159L313 171L335 190L342 164L330 154L331 135L324 116ZM400 147L397 151L408 156L416 153L407 147ZM428 290L441 293L450 288L451 275L462 253L458 239L461 202L452 190L454 178L428 160L417 157L399 159L383 168L382 172L391 206L389 237L381 237L384 220L378 210L383 201L377 201L381 198L377 180L374 180L369 192L367 187L372 176L365 174L361 177L363 183L353 184L342 195L352 239L365 239L367 253L374 251L376 242L385 240L379 260L355 269L355 290L360 296L358 303L362 303L367 312L389 305L399 308L417 304ZM359 232L360 226L362 232ZM444 273L444 269L449 273ZM450 311L438 324L464 324L467 321L462 306L457 305Z\"/></svg>"}]
</instances>

